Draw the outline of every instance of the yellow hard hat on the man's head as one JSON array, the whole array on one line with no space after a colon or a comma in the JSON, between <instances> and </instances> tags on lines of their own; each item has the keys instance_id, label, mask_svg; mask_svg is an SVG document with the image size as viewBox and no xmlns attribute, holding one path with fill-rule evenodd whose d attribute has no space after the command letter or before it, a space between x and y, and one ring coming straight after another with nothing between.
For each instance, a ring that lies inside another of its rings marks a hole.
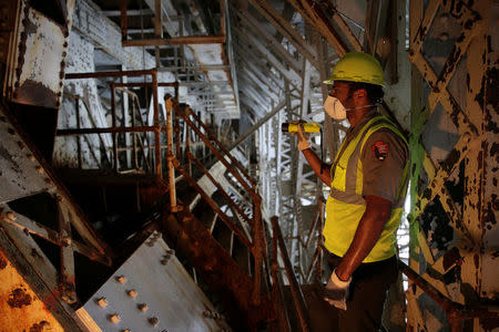
<instances>
[{"instance_id":1,"label":"yellow hard hat on the man's head","mask_svg":"<svg viewBox=\"0 0 499 332\"><path fill-rule=\"evenodd\" d=\"M333 84L334 81L369 83L383 86L383 69L373 55L361 52L346 53L333 68L329 80L323 83Z\"/></svg>"}]
</instances>

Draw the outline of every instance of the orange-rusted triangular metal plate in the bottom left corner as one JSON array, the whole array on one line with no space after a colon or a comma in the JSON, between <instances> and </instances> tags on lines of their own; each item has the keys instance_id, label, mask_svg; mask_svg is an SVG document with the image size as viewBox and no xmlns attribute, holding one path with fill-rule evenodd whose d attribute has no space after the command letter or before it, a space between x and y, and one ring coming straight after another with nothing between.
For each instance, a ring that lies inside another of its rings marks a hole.
<instances>
[{"instance_id":1,"label":"orange-rusted triangular metal plate in the bottom left corner","mask_svg":"<svg viewBox=\"0 0 499 332\"><path fill-rule=\"evenodd\" d=\"M64 331L1 250L0 280L2 331Z\"/></svg>"}]
</instances>

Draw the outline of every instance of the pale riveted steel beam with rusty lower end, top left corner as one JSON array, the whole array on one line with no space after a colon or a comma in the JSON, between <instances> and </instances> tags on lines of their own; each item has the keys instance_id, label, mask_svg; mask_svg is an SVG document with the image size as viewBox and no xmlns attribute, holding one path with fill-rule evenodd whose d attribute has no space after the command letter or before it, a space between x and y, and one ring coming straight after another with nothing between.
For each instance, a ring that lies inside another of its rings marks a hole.
<instances>
[{"instance_id":1,"label":"pale riveted steel beam with rusty lower end, top left corner","mask_svg":"<svg viewBox=\"0 0 499 332\"><path fill-rule=\"evenodd\" d=\"M19 1L16 38L11 39L8 96L21 104L58 108L68 54L74 1L67 3L64 24ZM53 14L53 13L52 13Z\"/></svg>"}]
</instances>

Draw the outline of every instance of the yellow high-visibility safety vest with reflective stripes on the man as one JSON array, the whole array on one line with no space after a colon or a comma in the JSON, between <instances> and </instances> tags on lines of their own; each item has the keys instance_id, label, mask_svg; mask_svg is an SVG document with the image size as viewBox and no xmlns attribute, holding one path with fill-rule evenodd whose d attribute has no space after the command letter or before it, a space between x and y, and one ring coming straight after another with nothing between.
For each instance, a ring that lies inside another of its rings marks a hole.
<instances>
[{"instance_id":1,"label":"yellow high-visibility safety vest with reflective stripes on the man","mask_svg":"<svg viewBox=\"0 0 499 332\"><path fill-rule=\"evenodd\" d=\"M390 129L407 146L406 138L396 126L386 116L376 115L363 126L347 146L345 146L345 141L343 142L330 169L332 188L326 203L326 222L323 230L324 246L339 257L346 253L354 239L358 222L366 210L366 201L361 195L364 174L359 156L367 138L380 128ZM407 162L390 218L386 222L375 247L364 259L364 262L388 259L396 252L395 231L400 224L403 215L403 198L405 198L407 191L408 165L409 163Z\"/></svg>"}]
</instances>

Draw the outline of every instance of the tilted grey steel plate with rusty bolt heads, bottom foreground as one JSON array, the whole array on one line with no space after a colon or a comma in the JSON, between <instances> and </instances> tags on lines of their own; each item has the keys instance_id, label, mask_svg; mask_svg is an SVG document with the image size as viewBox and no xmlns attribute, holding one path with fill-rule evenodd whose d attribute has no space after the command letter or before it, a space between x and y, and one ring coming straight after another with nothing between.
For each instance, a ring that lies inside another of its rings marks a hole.
<instances>
[{"instance_id":1,"label":"tilted grey steel plate with rusty bolt heads, bottom foreground","mask_svg":"<svg viewBox=\"0 0 499 332\"><path fill-rule=\"evenodd\" d=\"M154 231L78 312L101 331L230 331Z\"/></svg>"}]
</instances>

